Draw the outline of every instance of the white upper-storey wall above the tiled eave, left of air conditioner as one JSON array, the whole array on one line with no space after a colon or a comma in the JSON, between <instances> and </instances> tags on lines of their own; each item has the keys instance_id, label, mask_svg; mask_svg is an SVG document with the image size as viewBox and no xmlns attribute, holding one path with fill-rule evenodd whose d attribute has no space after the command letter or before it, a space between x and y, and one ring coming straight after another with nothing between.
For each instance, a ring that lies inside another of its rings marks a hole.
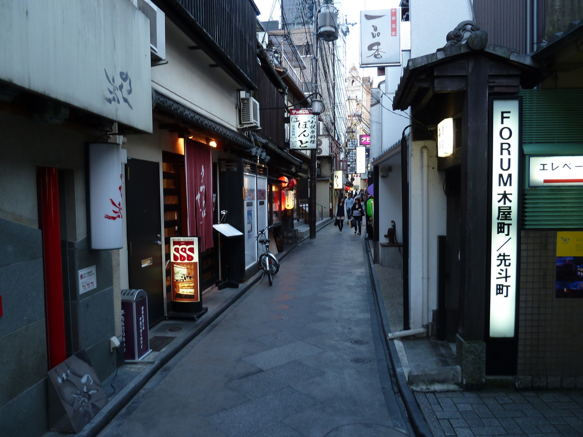
<instances>
[{"instance_id":1,"label":"white upper-storey wall above the tiled eave, left of air conditioner","mask_svg":"<svg viewBox=\"0 0 583 437\"><path fill-rule=\"evenodd\" d=\"M152 68L152 87L227 128L237 130L237 90L241 87L166 18L168 64Z\"/></svg>"}]
</instances>

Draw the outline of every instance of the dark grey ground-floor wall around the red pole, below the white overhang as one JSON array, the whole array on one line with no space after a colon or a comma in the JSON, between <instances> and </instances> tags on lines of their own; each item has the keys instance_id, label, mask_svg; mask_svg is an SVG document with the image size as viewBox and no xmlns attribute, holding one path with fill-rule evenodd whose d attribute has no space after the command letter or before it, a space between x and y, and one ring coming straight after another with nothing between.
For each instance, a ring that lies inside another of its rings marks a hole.
<instances>
[{"instance_id":1,"label":"dark grey ground-floor wall around the red pole, below the white overhang","mask_svg":"<svg viewBox=\"0 0 583 437\"><path fill-rule=\"evenodd\" d=\"M48 365L37 167L63 170L68 352L85 348L102 380L115 369L108 344L115 333L111 251L87 247L85 143L99 135L6 113L0 114L0 132L0 429L6 435L36 436L47 430ZM93 265L97 288L79 294L77 272Z\"/></svg>"}]
</instances>

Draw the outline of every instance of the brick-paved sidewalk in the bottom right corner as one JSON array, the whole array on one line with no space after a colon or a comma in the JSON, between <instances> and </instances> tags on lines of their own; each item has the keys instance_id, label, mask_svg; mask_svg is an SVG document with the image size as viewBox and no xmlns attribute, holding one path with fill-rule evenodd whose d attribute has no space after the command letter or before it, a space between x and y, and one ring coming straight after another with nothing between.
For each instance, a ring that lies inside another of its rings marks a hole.
<instances>
[{"instance_id":1,"label":"brick-paved sidewalk in the bottom right corner","mask_svg":"<svg viewBox=\"0 0 583 437\"><path fill-rule=\"evenodd\" d=\"M583 392L415 393L434 437L583 436Z\"/></svg>"}]
</instances>

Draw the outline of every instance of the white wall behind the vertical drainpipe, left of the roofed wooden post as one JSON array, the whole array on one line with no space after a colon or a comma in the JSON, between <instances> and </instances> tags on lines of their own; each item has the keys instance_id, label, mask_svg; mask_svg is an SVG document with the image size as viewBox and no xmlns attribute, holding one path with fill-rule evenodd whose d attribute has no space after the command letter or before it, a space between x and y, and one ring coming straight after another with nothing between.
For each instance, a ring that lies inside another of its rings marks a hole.
<instances>
[{"instance_id":1,"label":"white wall behind the vertical drainpipe, left of the roofed wooden post","mask_svg":"<svg viewBox=\"0 0 583 437\"><path fill-rule=\"evenodd\" d=\"M446 234L446 198L443 191L444 172L437 171L437 145L433 141L409 142L409 293L411 329L422 327L422 147L427 147L429 164L429 299L427 320L437 309L437 235Z\"/></svg>"}]
</instances>

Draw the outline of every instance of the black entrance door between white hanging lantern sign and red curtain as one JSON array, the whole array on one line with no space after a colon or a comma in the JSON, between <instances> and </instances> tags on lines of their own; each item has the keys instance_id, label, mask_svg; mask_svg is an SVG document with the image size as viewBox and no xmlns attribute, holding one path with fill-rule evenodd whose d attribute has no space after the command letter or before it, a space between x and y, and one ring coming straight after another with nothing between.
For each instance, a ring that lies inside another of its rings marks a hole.
<instances>
[{"instance_id":1,"label":"black entrance door between white hanging lantern sign and red curtain","mask_svg":"<svg viewBox=\"0 0 583 437\"><path fill-rule=\"evenodd\" d=\"M125 170L129 288L147 292L149 325L164 317L159 165L128 158Z\"/></svg>"}]
</instances>

